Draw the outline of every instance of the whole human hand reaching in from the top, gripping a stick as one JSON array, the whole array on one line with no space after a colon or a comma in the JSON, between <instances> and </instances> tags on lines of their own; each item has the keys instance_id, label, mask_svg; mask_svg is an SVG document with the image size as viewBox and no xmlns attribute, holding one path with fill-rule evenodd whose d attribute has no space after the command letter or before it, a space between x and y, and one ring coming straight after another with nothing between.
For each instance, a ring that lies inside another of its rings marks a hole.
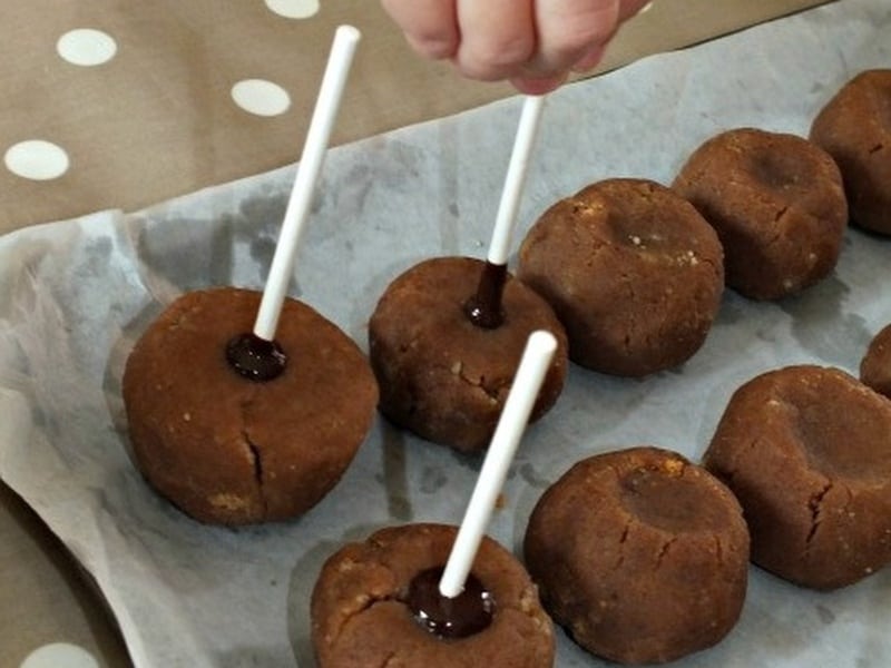
<instances>
[{"instance_id":1,"label":"whole human hand reaching in from the top, gripping a stick","mask_svg":"<svg viewBox=\"0 0 891 668\"><path fill-rule=\"evenodd\" d=\"M647 0L381 0L419 53L541 95L600 62Z\"/></svg>"}]
</instances>

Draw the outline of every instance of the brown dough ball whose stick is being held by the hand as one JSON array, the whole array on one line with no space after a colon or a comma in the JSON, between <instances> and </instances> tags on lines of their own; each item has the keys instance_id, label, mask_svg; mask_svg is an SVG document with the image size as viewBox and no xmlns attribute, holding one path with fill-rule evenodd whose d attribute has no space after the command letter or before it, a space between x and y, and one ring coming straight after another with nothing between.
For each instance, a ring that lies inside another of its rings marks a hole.
<instances>
[{"instance_id":1,"label":"brown dough ball whose stick is being held by the hand","mask_svg":"<svg viewBox=\"0 0 891 668\"><path fill-rule=\"evenodd\" d=\"M509 275L503 324L490 330L468 318L463 306L476 294L483 266L469 257L417 264L388 286L369 323L381 412L463 452L489 445L529 334L547 330L558 342L530 420L557 401L568 365L566 334L554 311Z\"/></svg>"}]
</instances>

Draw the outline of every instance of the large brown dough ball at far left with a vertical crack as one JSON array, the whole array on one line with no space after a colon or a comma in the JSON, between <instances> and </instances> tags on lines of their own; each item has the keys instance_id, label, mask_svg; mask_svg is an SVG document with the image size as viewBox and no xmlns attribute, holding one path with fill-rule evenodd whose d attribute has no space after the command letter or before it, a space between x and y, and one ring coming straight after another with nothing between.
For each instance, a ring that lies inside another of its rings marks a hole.
<instances>
[{"instance_id":1,"label":"large brown dough ball at far left with a vertical crack","mask_svg":"<svg viewBox=\"0 0 891 668\"><path fill-rule=\"evenodd\" d=\"M203 522L284 520L340 480L375 412L374 375L359 347L310 306L286 299L276 341L284 372L254 382L226 345L251 332L261 294L186 293L136 343L124 402L136 464Z\"/></svg>"}]
</instances>

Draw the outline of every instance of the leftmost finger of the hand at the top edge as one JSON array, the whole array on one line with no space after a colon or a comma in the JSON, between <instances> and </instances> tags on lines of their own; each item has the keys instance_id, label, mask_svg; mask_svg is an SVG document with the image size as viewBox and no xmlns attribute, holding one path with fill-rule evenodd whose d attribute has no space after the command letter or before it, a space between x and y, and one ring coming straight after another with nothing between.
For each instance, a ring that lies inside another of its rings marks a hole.
<instances>
[{"instance_id":1,"label":"leftmost finger of the hand at the top edge","mask_svg":"<svg viewBox=\"0 0 891 668\"><path fill-rule=\"evenodd\" d=\"M428 58L452 58L461 35L457 0L381 0L381 4L405 33L409 45Z\"/></svg>"}]
</instances>

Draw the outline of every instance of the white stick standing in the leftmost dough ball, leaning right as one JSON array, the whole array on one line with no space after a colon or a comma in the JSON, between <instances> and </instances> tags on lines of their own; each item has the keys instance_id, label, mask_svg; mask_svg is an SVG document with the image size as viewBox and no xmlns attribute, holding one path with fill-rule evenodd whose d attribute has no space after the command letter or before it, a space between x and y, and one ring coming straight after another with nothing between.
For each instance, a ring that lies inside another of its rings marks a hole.
<instances>
[{"instance_id":1,"label":"white stick standing in the leftmost dough ball, leaning right","mask_svg":"<svg viewBox=\"0 0 891 668\"><path fill-rule=\"evenodd\" d=\"M310 129L303 146L303 156L297 168L294 187L285 209L285 218L278 237L278 245L270 267L270 276L263 291L254 334L266 341L275 337L278 315L285 301L287 284L294 271L301 234L303 233L319 173L327 150L331 129L340 108L346 77L353 62L353 55L361 33L352 26L341 26L334 33L327 67L315 101L315 110L310 120Z\"/></svg>"}]
</instances>

